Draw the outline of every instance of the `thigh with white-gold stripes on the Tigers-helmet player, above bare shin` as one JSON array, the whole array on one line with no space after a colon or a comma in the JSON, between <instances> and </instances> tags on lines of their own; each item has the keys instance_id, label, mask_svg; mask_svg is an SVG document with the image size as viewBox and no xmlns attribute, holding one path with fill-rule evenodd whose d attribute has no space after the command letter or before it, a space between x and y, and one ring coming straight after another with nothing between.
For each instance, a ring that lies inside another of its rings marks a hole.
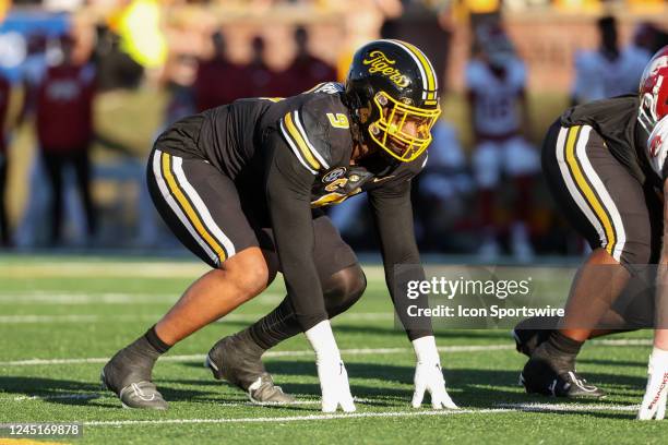
<instances>
[{"instance_id":1,"label":"thigh with white-gold stripes on the Tigers-helmet player, above bare shin","mask_svg":"<svg viewBox=\"0 0 668 445\"><path fill-rule=\"evenodd\" d=\"M181 243L212 267L258 245L234 182L203 159L156 148L147 168L153 202Z\"/></svg>"}]
</instances>

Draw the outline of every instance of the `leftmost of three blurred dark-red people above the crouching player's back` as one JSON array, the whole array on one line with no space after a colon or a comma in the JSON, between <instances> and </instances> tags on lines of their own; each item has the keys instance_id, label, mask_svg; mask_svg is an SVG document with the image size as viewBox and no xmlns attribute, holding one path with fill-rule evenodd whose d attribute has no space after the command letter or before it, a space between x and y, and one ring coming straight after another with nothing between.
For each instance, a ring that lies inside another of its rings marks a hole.
<instances>
[{"instance_id":1,"label":"leftmost of three blurred dark-red people above the crouching player's back","mask_svg":"<svg viewBox=\"0 0 668 445\"><path fill-rule=\"evenodd\" d=\"M198 111L230 104L248 96L243 70L227 59L225 36L220 32L212 35L213 58L200 61L194 81Z\"/></svg>"}]
</instances>

